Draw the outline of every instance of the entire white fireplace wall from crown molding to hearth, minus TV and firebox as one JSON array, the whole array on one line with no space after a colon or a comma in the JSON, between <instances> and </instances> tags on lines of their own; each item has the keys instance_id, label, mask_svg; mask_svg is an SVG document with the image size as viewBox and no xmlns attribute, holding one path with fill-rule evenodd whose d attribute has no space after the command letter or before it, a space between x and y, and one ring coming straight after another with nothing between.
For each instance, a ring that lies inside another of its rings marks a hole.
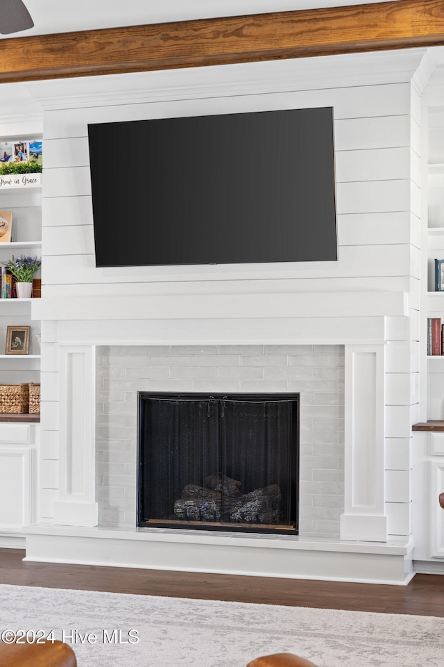
<instances>
[{"instance_id":1,"label":"entire white fireplace wall from crown molding to hearth, minus TV and firebox","mask_svg":"<svg viewBox=\"0 0 444 667\"><path fill-rule=\"evenodd\" d=\"M27 559L409 581L427 72L413 49L26 84L45 154ZM96 268L88 123L314 106L334 109L337 262ZM300 392L300 536L136 529L138 390Z\"/></svg>"}]
</instances>

